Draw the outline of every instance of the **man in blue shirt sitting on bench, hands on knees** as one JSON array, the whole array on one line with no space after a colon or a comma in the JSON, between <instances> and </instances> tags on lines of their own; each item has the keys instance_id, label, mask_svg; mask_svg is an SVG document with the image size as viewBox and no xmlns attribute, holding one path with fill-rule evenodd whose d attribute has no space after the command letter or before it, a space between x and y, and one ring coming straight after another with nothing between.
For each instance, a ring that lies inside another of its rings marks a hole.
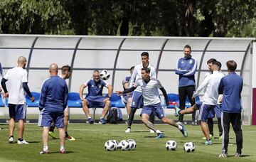
<instances>
[{"instance_id":1,"label":"man in blue shirt sitting on bench, hands on knees","mask_svg":"<svg viewBox=\"0 0 256 162\"><path fill-rule=\"evenodd\" d=\"M85 90L85 87L88 87L88 94L85 98L82 97L82 93ZM107 87L108 89L108 96L102 96L103 87ZM88 117L88 122L93 124L94 121L92 117L90 117L89 108L92 107L101 107L102 110L102 117L100 117L99 124L106 124L105 116L110 109L110 97L112 95L112 86L105 82L104 80L100 79L100 71L95 70L92 74L92 78L87 80L80 86L79 94L80 99L82 100L82 109L85 112L85 115Z\"/></svg>"}]
</instances>

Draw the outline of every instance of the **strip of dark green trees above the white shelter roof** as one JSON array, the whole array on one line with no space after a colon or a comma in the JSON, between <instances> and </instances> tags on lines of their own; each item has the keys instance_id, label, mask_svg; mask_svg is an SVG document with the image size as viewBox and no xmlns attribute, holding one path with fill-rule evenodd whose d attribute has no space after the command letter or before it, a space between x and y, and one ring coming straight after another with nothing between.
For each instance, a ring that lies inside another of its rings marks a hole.
<instances>
[{"instance_id":1,"label":"strip of dark green trees above the white shelter roof","mask_svg":"<svg viewBox=\"0 0 256 162\"><path fill-rule=\"evenodd\" d=\"M255 6L252 0L3 0L0 33L252 37Z\"/></svg>"}]
</instances>

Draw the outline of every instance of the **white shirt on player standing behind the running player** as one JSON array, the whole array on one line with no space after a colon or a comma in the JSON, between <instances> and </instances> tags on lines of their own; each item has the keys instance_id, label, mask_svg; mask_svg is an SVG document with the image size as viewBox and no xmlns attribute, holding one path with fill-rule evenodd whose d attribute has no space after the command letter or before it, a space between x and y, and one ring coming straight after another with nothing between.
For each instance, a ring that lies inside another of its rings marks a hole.
<instances>
[{"instance_id":1,"label":"white shirt on player standing behind the running player","mask_svg":"<svg viewBox=\"0 0 256 162\"><path fill-rule=\"evenodd\" d=\"M142 77L142 68L143 68L142 63L135 66L134 72L132 72L132 76L131 76L131 79L130 79L130 82L129 82L129 87L132 87L132 85L134 84L134 80L135 80L135 82L137 82L137 80L138 80L140 77ZM156 78L156 69L154 68L154 66L152 66L152 65L149 63L149 65L148 65L147 68L150 69L150 74L149 74L149 76L150 76L151 78ZM142 88L141 88L141 87L137 87L135 91L142 92Z\"/></svg>"}]
</instances>

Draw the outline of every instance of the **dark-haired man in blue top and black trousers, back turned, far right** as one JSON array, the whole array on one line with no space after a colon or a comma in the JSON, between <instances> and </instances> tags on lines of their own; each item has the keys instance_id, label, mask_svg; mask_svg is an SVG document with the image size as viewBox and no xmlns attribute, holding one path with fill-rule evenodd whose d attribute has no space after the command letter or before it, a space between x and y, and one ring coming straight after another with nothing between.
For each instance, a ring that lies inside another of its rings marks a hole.
<instances>
[{"instance_id":1,"label":"dark-haired man in blue top and black trousers, back turned, far right","mask_svg":"<svg viewBox=\"0 0 256 162\"><path fill-rule=\"evenodd\" d=\"M241 129L241 92L242 77L235 73L237 64L233 60L226 63L228 67L228 75L220 80L218 87L219 94L223 94L221 120L223 125L223 152L220 158L228 157L228 141L230 124L235 131L237 152L236 157L240 157L242 153L242 129Z\"/></svg>"}]
</instances>

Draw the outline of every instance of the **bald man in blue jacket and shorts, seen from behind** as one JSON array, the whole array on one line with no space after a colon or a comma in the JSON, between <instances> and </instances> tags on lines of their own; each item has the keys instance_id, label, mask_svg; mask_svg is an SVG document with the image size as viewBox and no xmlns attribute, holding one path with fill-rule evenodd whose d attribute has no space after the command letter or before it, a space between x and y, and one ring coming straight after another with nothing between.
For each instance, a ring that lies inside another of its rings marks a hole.
<instances>
[{"instance_id":1,"label":"bald man in blue jacket and shorts, seen from behind","mask_svg":"<svg viewBox=\"0 0 256 162\"><path fill-rule=\"evenodd\" d=\"M40 116L38 126L43 127L43 150L48 153L49 129L52 122L58 128L60 136L60 153L65 153L64 109L68 104L68 86L65 80L58 76L58 65L50 65L50 77L43 82L40 94Z\"/></svg>"}]
</instances>

